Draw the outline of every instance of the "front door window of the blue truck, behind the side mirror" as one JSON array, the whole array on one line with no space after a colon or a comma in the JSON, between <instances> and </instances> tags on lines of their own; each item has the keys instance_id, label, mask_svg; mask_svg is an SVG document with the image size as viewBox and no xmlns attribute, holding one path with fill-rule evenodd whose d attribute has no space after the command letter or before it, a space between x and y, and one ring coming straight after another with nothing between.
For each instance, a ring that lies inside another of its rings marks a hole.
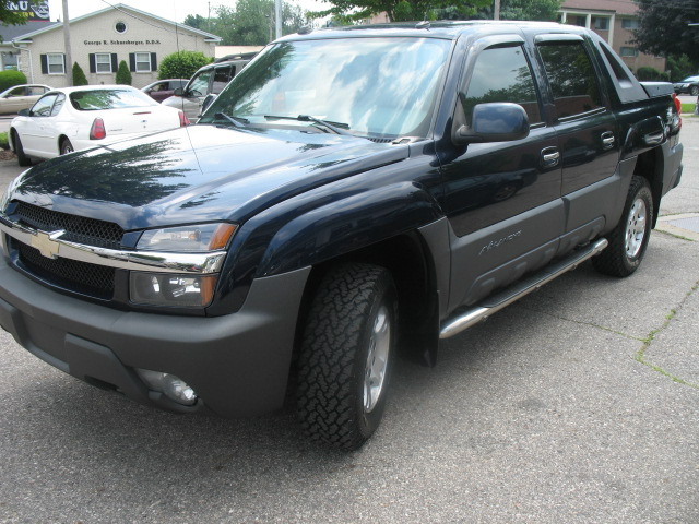
<instances>
[{"instance_id":1,"label":"front door window of the blue truck, behind the side mirror","mask_svg":"<svg viewBox=\"0 0 699 524\"><path fill-rule=\"evenodd\" d=\"M532 71L521 46L486 49L476 59L462 99L467 118L476 104L490 102L519 104L530 123L542 121Z\"/></svg>"}]
</instances>

